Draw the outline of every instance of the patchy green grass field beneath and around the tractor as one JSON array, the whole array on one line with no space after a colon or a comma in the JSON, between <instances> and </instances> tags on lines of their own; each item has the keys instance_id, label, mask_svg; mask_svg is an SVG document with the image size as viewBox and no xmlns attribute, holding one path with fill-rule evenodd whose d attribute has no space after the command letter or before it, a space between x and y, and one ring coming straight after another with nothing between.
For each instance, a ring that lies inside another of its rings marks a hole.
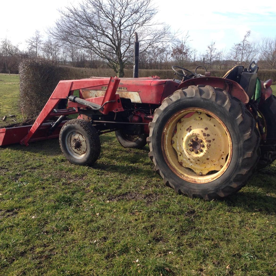
<instances>
[{"instance_id":1,"label":"patchy green grass field beneath and around the tractor","mask_svg":"<svg viewBox=\"0 0 276 276\"><path fill-rule=\"evenodd\" d=\"M1 118L22 119L17 99L18 76L0 75ZM206 202L165 187L148 146L100 139L92 168L57 139L0 148L1 276L276 275L275 164Z\"/></svg>"}]
</instances>

